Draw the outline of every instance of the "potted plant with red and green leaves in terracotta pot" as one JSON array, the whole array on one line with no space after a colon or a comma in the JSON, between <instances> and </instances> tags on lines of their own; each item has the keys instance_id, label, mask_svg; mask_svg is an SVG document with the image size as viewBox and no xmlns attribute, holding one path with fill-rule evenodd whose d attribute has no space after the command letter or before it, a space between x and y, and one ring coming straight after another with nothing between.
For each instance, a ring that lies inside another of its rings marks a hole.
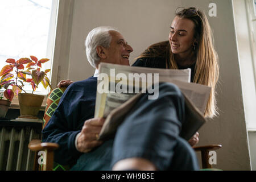
<instances>
[{"instance_id":1,"label":"potted plant with red and green leaves in terracotta pot","mask_svg":"<svg viewBox=\"0 0 256 182\"><path fill-rule=\"evenodd\" d=\"M46 69L45 71L40 70L42 64L49 61L49 59L38 60L35 56L30 56L30 58L31 59L27 57L21 58L18 61L7 59L6 62L9 64L5 65L0 72L0 76L2 76L0 85L3 85L6 89L12 86L14 95L18 96L20 107L19 118L38 119L36 115L38 115L40 107L42 106L44 96L34 94L34 91L38 88L40 82L45 89L47 89L48 86L52 89L49 78L47 77L47 73L50 69ZM27 64L27 70L25 70L25 64ZM14 73L12 73L13 71ZM23 89L24 82L31 84L32 93L27 93Z\"/></svg>"}]
</instances>

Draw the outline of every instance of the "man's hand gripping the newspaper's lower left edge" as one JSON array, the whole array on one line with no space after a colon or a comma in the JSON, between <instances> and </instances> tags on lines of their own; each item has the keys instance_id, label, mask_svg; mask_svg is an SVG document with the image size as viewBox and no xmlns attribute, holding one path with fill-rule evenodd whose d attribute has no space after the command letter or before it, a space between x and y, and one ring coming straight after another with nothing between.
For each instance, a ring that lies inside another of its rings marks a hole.
<instances>
[{"instance_id":1,"label":"man's hand gripping the newspaper's lower left edge","mask_svg":"<svg viewBox=\"0 0 256 182\"><path fill-rule=\"evenodd\" d=\"M102 141L97 140L100 134L104 118L92 118L84 122L81 132L77 137L77 150L80 152L89 152L94 147L100 146Z\"/></svg>"}]
</instances>

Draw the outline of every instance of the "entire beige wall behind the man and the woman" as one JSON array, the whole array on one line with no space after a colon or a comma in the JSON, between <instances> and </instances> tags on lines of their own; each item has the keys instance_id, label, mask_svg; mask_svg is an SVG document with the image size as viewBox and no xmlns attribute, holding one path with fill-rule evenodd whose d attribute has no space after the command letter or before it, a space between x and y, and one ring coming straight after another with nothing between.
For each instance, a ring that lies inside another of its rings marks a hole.
<instances>
[{"instance_id":1,"label":"entire beige wall behind the man and the woman","mask_svg":"<svg viewBox=\"0 0 256 182\"><path fill-rule=\"evenodd\" d=\"M236 34L231 0L75 0L68 78L74 81L93 75L86 60L84 40L92 28L103 25L118 27L134 48L132 59L144 48L167 40L169 27L178 6L197 6L208 14L208 5L215 2L217 17L209 17L214 31L215 47L220 58L220 83L217 105L220 117L200 129L200 145L220 143L216 168L250 170L250 156L241 89Z\"/></svg>"}]
</instances>

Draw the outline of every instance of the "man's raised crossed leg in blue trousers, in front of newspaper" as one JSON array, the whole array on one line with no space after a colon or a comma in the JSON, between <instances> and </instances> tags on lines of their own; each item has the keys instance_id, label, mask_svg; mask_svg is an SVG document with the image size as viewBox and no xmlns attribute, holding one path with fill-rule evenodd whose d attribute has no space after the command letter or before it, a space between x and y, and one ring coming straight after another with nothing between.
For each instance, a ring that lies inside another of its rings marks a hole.
<instances>
[{"instance_id":1,"label":"man's raised crossed leg in blue trousers, in front of newspaper","mask_svg":"<svg viewBox=\"0 0 256 182\"><path fill-rule=\"evenodd\" d=\"M117 130L112 166L122 159L141 157L159 170L169 169L174 153L179 152L175 147L184 113L183 95L174 84L159 84L156 100L148 100L148 94L143 94Z\"/></svg>"}]
</instances>

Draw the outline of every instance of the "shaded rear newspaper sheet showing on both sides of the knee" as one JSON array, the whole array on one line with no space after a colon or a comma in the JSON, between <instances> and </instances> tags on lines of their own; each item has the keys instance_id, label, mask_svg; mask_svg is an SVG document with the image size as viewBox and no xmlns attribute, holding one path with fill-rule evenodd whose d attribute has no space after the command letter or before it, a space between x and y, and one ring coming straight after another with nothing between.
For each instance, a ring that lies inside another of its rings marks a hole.
<instances>
[{"instance_id":1,"label":"shaded rear newspaper sheet showing on both sides of the knee","mask_svg":"<svg viewBox=\"0 0 256 182\"><path fill-rule=\"evenodd\" d=\"M206 122L204 118L204 110L210 94L210 87L195 83L182 82L167 78L162 80L177 85L185 98L185 120L182 126L180 136L185 140L189 140ZM189 94L187 94L189 93ZM112 110L105 120L100 133L99 139L107 139L115 134L118 126L122 123L126 113L134 106L137 100L142 96L141 93L131 97L130 100L121 106ZM197 99L197 96L198 99Z\"/></svg>"}]
</instances>

